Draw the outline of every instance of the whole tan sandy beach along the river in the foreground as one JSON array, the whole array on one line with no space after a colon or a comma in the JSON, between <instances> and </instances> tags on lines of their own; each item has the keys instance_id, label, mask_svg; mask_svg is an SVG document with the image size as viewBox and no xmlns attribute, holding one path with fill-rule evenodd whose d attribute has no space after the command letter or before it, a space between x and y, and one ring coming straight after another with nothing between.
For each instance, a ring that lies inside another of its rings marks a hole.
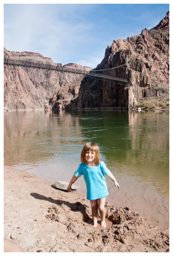
<instances>
[{"instance_id":1,"label":"whole tan sandy beach along the river in the foreground","mask_svg":"<svg viewBox=\"0 0 173 256\"><path fill-rule=\"evenodd\" d=\"M130 205L106 202L107 229L93 229L86 196L4 167L4 252L169 252L169 230Z\"/></svg>"}]
</instances>

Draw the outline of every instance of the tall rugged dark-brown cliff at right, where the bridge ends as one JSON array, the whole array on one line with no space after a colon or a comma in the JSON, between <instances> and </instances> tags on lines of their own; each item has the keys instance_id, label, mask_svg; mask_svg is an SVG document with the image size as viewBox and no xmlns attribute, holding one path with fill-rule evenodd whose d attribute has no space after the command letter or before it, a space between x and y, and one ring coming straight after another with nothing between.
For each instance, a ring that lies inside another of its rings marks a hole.
<instances>
[{"instance_id":1,"label":"tall rugged dark-brown cliff at right, where the bridge ends","mask_svg":"<svg viewBox=\"0 0 173 256\"><path fill-rule=\"evenodd\" d=\"M105 51L96 70L128 79L115 84L86 78L82 81L75 108L132 108L144 97L169 95L169 12L158 26L140 35L117 40Z\"/></svg>"}]
</instances>

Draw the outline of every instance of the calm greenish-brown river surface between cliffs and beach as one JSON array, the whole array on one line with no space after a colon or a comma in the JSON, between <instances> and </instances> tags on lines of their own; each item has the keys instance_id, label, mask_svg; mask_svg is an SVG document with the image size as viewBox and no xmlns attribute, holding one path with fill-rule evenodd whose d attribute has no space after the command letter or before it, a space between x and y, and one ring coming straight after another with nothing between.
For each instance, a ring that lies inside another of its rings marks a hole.
<instances>
[{"instance_id":1,"label":"calm greenish-brown river surface between cliffs and beach","mask_svg":"<svg viewBox=\"0 0 173 256\"><path fill-rule=\"evenodd\" d=\"M107 179L108 200L130 206L154 223L169 223L169 112L83 111L4 113L4 164L48 180L70 180L84 143L121 185ZM86 193L83 179L77 180Z\"/></svg>"}]
</instances>

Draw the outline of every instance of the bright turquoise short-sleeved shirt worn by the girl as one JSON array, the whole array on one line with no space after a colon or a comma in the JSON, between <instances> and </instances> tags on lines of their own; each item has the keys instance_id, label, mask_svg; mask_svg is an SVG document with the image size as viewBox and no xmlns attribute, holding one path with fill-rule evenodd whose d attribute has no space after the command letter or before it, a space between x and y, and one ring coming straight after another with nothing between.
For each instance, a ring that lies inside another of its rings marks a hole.
<instances>
[{"instance_id":1,"label":"bright turquoise short-sleeved shirt worn by the girl","mask_svg":"<svg viewBox=\"0 0 173 256\"><path fill-rule=\"evenodd\" d=\"M87 166L86 163L81 163L74 175L76 177L84 175L87 187L87 199L95 200L109 195L107 183L105 181L105 175L108 175L109 173L110 170L102 161L100 164L91 167Z\"/></svg>"}]
</instances>

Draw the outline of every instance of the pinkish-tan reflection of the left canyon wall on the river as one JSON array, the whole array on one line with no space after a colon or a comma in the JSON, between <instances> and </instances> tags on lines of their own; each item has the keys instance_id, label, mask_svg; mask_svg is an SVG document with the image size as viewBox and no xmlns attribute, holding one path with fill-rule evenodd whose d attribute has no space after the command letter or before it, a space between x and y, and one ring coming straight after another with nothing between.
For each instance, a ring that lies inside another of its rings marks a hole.
<instances>
[{"instance_id":1,"label":"pinkish-tan reflection of the left canyon wall on the river","mask_svg":"<svg viewBox=\"0 0 173 256\"><path fill-rule=\"evenodd\" d=\"M4 114L4 164L38 164L67 157L80 140L78 119L70 114Z\"/></svg>"}]
</instances>

